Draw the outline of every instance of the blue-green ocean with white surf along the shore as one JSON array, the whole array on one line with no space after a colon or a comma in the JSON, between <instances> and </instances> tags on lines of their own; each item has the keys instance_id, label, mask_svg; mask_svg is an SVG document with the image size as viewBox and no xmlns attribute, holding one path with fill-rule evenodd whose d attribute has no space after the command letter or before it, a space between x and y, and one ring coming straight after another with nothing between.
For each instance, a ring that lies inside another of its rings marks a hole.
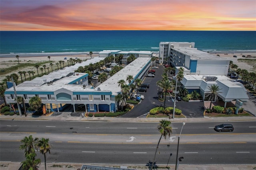
<instances>
[{"instance_id":1,"label":"blue-green ocean with white surf along the shore","mask_svg":"<svg viewBox=\"0 0 256 170\"><path fill-rule=\"evenodd\" d=\"M209 52L256 51L256 31L0 31L0 57L155 51L159 42L195 42Z\"/></svg>"}]
</instances>

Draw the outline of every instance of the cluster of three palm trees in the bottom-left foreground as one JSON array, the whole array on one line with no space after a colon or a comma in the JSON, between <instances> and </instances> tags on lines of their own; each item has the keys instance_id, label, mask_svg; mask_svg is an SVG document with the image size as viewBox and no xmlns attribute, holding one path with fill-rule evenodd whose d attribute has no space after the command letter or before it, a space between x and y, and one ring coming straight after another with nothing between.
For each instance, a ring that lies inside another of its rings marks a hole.
<instances>
[{"instance_id":1,"label":"cluster of three palm trees in the bottom-left foreground","mask_svg":"<svg viewBox=\"0 0 256 170\"><path fill-rule=\"evenodd\" d=\"M41 160L36 158L36 149L39 149L40 153L44 155L44 166L46 170L46 153L49 152L52 147L49 144L49 139L45 138L33 138L32 135L25 136L21 140L20 149L25 150L24 155L26 160L22 161L22 170L38 170L37 166L41 163Z\"/></svg>"}]
</instances>

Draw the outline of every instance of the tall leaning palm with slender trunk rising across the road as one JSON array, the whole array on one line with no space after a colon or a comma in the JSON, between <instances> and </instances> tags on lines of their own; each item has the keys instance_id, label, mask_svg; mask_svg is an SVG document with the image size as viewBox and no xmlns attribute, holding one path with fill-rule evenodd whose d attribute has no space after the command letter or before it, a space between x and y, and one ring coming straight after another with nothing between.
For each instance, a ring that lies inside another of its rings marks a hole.
<instances>
[{"instance_id":1,"label":"tall leaning palm with slender trunk rising across the road","mask_svg":"<svg viewBox=\"0 0 256 170\"><path fill-rule=\"evenodd\" d=\"M157 146L156 146L156 152L157 152L157 150L158 150L158 146L159 146L159 143L160 143L160 141L161 141L162 136L164 136L164 139L166 139L167 135L168 135L169 137L171 136L171 134L172 134L172 127L170 127L170 125L171 125L171 122L170 122L170 121L166 121L166 120L164 120L164 119L162 119L162 120L160 121L160 124L158 124L157 129L158 129L159 132L161 133L161 136L160 136L160 139L159 139L158 144L157 144ZM154 159L153 159L152 165L151 165L151 167L150 167L150 170L152 170L152 167L153 167L153 165L154 165L154 163L155 163L156 152L155 152Z\"/></svg>"}]
</instances>

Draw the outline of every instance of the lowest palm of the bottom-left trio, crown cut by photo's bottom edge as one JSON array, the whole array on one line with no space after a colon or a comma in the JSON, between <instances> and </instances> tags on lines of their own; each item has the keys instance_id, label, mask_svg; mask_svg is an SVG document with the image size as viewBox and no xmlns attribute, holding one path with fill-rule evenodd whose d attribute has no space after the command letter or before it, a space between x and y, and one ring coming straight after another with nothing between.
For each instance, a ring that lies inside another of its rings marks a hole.
<instances>
[{"instance_id":1,"label":"lowest palm of the bottom-left trio, crown cut by photo's bottom edge","mask_svg":"<svg viewBox=\"0 0 256 170\"><path fill-rule=\"evenodd\" d=\"M37 165L41 163L40 159L36 159L36 153L30 153L26 156L26 160L22 161L22 170L38 170Z\"/></svg>"}]
</instances>

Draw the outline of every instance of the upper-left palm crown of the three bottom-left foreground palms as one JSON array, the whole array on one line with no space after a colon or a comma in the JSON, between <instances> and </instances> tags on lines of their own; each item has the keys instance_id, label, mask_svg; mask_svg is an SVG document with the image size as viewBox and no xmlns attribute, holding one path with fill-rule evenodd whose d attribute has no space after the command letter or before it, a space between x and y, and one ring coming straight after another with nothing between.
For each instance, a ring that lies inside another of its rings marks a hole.
<instances>
[{"instance_id":1,"label":"upper-left palm crown of the three bottom-left foreground palms","mask_svg":"<svg viewBox=\"0 0 256 170\"><path fill-rule=\"evenodd\" d=\"M28 137L25 136L20 142L22 143L20 145L21 150L25 150L25 156L31 153L35 153L35 145L38 138L33 138L32 135L29 135Z\"/></svg>"}]
</instances>

